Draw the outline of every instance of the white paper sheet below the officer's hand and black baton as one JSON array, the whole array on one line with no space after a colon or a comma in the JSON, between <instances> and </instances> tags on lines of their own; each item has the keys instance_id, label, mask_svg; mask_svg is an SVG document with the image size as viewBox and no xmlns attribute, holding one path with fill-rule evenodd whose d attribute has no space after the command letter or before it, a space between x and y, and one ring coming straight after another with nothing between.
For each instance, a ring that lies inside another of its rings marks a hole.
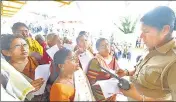
<instances>
[{"instance_id":1,"label":"white paper sheet below the officer's hand and black baton","mask_svg":"<svg viewBox=\"0 0 176 102\"><path fill-rule=\"evenodd\" d=\"M109 80L101 80L101 81L97 81L95 83L100 85L101 90L103 92L103 95L105 96L105 98L109 98L111 97L113 94L117 94L119 93L119 87L118 87L118 83L119 81L115 78L111 78Z\"/></svg>"}]
</instances>

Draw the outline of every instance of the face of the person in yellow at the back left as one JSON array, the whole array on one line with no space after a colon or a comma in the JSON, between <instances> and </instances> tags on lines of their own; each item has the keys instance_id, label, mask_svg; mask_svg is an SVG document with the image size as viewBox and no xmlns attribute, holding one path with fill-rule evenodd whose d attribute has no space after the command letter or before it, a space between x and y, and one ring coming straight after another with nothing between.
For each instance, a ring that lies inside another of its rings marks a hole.
<instances>
[{"instance_id":1,"label":"face of the person in yellow at the back left","mask_svg":"<svg viewBox=\"0 0 176 102\"><path fill-rule=\"evenodd\" d=\"M18 27L18 29L15 31L15 34L26 38L29 36L29 30L26 27L21 26L21 27Z\"/></svg>"}]
</instances>

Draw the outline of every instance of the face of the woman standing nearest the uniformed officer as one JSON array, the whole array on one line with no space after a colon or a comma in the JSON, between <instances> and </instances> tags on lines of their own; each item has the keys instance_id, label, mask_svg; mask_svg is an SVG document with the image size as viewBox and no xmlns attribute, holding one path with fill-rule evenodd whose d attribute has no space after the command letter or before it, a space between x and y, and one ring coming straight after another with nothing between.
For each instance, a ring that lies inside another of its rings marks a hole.
<instances>
[{"instance_id":1,"label":"face of the woman standing nearest the uniformed officer","mask_svg":"<svg viewBox=\"0 0 176 102\"><path fill-rule=\"evenodd\" d=\"M99 51L100 55L103 57L107 57L109 55L110 45L107 40L101 41L98 51Z\"/></svg>"}]
</instances>

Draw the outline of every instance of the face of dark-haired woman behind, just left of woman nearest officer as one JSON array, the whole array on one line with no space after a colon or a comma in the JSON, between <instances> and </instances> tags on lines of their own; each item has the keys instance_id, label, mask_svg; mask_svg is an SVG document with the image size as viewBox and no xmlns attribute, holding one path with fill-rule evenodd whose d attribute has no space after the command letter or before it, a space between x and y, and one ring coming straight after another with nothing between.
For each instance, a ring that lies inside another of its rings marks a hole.
<instances>
[{"instance_id":1,"label":"face of dark-haired woman behind, just left of woman nearest officer","mask_svg":"<svg viewBox=\"0 0 176 102\"><path fill-rule=\"evenodd\" d=\"M78 42L79 47L81 48L87 48L88 47L88 41L86 36L81 36L79 37L79 42Z\"/></svg>"}]
</instances>

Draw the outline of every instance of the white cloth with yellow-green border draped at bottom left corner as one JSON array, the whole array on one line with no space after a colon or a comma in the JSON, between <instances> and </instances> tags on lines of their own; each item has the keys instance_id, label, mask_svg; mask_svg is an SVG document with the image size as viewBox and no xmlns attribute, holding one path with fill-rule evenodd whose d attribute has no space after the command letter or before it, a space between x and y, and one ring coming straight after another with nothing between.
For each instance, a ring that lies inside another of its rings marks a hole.
<instances>
[{"instance_id":1,"label":"white cloth with yellow-green border draped at bottom left corner","mask_svg":"<svg viewBox=\"0 0 176 102\"><path fill-rule=\"evenodd\" d=\"M13 66L2 58L1 69L9 73L9 83L12 86L12 90L9 90L9 92L14 93L19 100L23 101L26 95L34 90L34 87Z\"/></svg>"}]
</instances>

